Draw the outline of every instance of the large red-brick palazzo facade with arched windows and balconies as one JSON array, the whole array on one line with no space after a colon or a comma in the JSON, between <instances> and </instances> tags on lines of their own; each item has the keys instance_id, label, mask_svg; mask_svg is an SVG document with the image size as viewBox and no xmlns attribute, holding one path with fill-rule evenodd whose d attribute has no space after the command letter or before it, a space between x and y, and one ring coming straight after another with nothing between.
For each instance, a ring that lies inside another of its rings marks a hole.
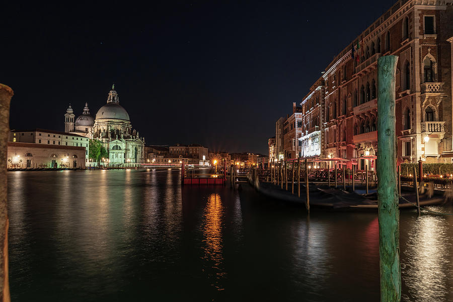
<instances>
[{"instance_id":1,"label":"large red-brick palazzo facade with arched windows and balconies","mask_svg":"<svg viewBox=\"0 0 453 302\"><path fill-rule=\"evenodd\" d=\"M374 170L377 61L384 55L399 57L398 163L451 163L453 0L400 0L351 41L300 103L300 150L285 158L344 158L348 168Z\"/></svg>"}]
</instances>

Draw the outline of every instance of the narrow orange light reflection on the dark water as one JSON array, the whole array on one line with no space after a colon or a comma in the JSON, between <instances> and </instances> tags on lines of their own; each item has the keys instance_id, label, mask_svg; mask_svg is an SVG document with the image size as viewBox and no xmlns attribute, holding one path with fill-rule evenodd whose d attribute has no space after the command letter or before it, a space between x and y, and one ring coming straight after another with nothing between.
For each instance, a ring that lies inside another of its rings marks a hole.
<instances>
[{"instance_id":1,"label":"narrow orange light reflection on the dark water","mask_svg":"<svg viewBox=\"0 0 453 302\"><path fill-rule=\"evenodd\" d=\"M218 290L222 290L219 284L225 272L222 268L222 225L223 208L220 195L213 193L208 196L206 207L204 208L203 220L203 242L205 243L203 259L211 262L212 273L208 271L209 278L214 278L214 283L211 284Z\"/></svg>"}]
</instances>

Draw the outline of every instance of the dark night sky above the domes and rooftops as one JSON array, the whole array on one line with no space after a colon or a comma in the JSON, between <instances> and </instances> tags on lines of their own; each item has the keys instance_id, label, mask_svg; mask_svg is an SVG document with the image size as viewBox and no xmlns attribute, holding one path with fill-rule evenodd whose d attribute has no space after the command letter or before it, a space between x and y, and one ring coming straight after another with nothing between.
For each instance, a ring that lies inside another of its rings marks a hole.
<instances>
[{"instance_id":1,"label":"dark night sky above the domes and rooftops","mask_svg":"<svg viewBox=\"0 0 453 302\"><path fill-rule=\"evenodd\" d=\"M2 4L12 129L64 130L112 83L147 144L267 154L275 121L396 1Z\"/></svg>"}]
</instances>

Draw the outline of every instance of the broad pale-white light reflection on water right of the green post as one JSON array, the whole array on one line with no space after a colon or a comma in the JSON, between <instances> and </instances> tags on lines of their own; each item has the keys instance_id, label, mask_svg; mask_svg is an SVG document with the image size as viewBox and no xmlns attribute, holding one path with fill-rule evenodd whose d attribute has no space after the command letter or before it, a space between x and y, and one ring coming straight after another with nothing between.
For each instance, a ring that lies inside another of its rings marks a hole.
<instances>
[{"instance_id":1,"label":"broad pale-white light reflection on water right of the green post","mask_svg":"<svg viewBox=\"0 0 453 302\"><path fill-rule=\"evenodd\" d=\"M408 287L404 301L446 301L450 260L447 221L444 217L423 215L408 234L402 278Z\"/></svg>"}]
</instances>

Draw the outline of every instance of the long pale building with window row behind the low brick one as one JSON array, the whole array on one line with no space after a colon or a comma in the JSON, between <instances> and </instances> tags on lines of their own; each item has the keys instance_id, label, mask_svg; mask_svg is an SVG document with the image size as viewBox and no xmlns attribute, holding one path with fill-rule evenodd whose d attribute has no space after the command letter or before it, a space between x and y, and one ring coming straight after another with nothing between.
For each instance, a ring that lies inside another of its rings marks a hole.
<instances>
[{"instance_id":1,"label":"long pale building with window row behind the low brick one","mask_svg":"<svg viewBox=\"0 0 453 302\"><path fill-rule=\"evenodd\" d=\"M61 145L61 146L84 147L86 149L84 159L86 162L88 162L88 152L90 143L89 139L83 135L46 129L30 129L30 130L13 129L10 131L9 141L27 142L52 146Z\"/></svg>"}]
</instances>

